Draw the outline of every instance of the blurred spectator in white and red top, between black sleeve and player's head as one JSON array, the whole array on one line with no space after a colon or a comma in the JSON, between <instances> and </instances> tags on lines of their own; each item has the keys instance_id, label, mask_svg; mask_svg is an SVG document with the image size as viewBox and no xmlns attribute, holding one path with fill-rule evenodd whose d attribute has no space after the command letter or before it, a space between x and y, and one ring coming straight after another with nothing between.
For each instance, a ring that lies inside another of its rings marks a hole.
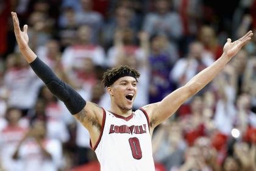
<instances>
[{"instance_id":1,"label":"blurred spectator in white and red top, between black sleeve and player's head","mask_svg":"<svg viewBox=\"0 0 256 171\"><path fill-rule=\"evenodd\" d=\"M95 66L104 66L105 54L101 46L90 41L91 28L80 26L77 30L78 41L63 52L62 63L70 82L95 83Z\"/></svg>"}]
</instances>

